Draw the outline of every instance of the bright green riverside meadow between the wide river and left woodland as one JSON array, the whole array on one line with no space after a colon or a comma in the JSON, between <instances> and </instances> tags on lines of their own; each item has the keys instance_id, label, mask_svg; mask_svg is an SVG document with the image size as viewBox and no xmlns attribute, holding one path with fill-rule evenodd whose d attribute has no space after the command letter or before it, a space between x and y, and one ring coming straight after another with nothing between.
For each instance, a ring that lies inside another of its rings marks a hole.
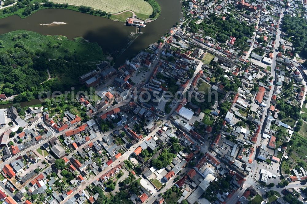
<instances>
[{"instance_id":1,"label":"bright green riverside meadow between the wide river and left woodland","mask_svg":"<svg viewBox=\"0 0 307 204\"><path fill-rule=\"evenodd\" d=\"M21 37L13 40L14 36L28 34L27 37ZM98 61L103 60L104 55L102 48L97 43L89 43L82 37L75 38L74 41L68 40L65 36L44 36L37 32L17 30L0 35L3 40L4 48L0 48L0 53L5 52L8 48L14 47L18 41L23 46L29 47L31 51L42 51L48 53L46 58L58 59L65 55L77 54L81 61Z\"/></svg>"}]
</instances>

